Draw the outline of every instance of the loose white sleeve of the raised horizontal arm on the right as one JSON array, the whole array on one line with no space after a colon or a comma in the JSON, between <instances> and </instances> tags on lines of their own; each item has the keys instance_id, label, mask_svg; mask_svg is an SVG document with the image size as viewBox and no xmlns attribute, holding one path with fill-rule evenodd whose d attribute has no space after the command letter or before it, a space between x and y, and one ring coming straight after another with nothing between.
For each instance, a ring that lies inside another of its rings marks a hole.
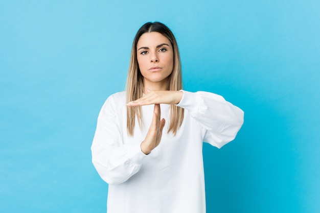
<instances>
[{"instance_id":1,"label":"loose white sleeve of the raised horizontal arm on the right","mask_svg":"<svg viewBox=\"0 0 320 213\"><path fill-rule=\"evenodd\" d=\"M221 148L233 140L243 124L244 112L211 92L184 91L177 106L184 108L203 129L203 141Z\"/></svg>"}]
</instances>

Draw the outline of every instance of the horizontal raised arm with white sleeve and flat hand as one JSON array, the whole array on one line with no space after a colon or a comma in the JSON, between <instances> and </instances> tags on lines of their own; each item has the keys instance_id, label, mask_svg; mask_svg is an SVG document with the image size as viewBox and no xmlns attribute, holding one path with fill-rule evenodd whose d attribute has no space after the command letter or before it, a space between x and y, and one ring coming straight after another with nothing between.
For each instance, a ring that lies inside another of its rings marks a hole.
<instances>
[{"instance_id":1,"label":"horizontal raised arm with white sleeve and flat hand","mask_svg":"<svg viewBox=\"0 0 320 213\"><path fill-rule=\"evenodd\" d=\"M149 104L176 104L186 109L204 129L203 141L218 148L233 140L243 124L243 111L211 92L150 91L127 106Z\"/></svg>"}]
</instances>

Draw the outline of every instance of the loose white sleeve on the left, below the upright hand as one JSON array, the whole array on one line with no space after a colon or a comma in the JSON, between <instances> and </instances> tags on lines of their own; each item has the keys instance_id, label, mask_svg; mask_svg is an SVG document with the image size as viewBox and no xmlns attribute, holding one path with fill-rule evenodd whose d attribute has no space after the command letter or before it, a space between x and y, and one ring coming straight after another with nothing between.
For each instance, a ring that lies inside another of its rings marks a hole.
<instances>
[{"instance_id":1,"label":"loose white sleeve on the left, below the upright hand","mask_svg":"<svg viewBox=\"0 0 320 213\"><path fill-rule=\"evenodd\" d=\"M119 104L119 103L118 103ZM116 114L117 103L109 97L97 122L92 150L92 161L100 177L108 184L119 184L137 173L145 154L139 144L126 145Z\"/></svg>"}]
</instances>

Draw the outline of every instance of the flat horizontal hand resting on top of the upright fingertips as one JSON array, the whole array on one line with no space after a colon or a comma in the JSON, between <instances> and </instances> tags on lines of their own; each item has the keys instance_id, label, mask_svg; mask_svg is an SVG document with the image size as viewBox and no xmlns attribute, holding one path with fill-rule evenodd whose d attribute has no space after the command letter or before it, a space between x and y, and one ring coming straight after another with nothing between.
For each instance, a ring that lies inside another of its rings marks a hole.
<instances>
[{"instance_id":1,"label":"flat horizontal hand resting on top of the upright fingertips","mask_svg":"<svg viewBox=\"0 0 320 213\"><path fill-rule=\"evenodd\" d=\"M144 97L127 103L127 106L132 107L151 104L178 104L183 95L184 92L182 91L149 91Z\"/></svg>"}]
</instances>

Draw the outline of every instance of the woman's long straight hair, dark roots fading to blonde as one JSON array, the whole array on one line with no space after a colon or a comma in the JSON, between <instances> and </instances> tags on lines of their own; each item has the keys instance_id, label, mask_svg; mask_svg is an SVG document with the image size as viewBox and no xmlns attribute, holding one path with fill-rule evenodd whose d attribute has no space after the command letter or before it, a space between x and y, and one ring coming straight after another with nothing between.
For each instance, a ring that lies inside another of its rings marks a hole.
<instances>
[{"instance_id":1,"label":"woman's long straight hair, dark roots fading to blonde","mask_svg":"<svg viewBox=\"0 0 320 213\"><path fill-rule=\"evenodd\" d=\"M178 45L175 40L175 37L171 30L165 26L161 22L147 22L145 23L136 33L132 49L131 49L131 58L130 65L128 70L128 78L127 78L127 103L131 101L135 101L143 96L144 93L144 79L140 72L138 59L136 55L136 45L139 41L139 38L144 33L157 32L161 33L165 37L169 39L171 45L173 47L173 70L169 75L168 80L168 88L167 90L180 90L182 89L182 76L181 76L181 62L180 62L180 54L178 50ZM177 107L175 105L171 105L170 108L170 124L168 128L168 133L170 131L175 135L177 130L182 124L184 120L184 109L181 107ZM143 125L142 121L142 111L141 106L136 107L127 107L127 132L129 135L133 135L134 126L135 126L135 117L138 119L140 128Z\"/></svg>"}]
</instances>

